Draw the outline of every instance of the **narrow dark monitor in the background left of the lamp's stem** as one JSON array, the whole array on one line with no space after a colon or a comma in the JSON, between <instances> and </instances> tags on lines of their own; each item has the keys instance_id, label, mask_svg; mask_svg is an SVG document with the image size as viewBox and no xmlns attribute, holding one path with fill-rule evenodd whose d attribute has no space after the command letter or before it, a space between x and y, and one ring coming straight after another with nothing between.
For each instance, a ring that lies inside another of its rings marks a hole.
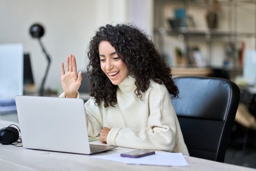
<instances>
[{"instance_id":1,"label":"narrow dark monitor in the background left of the lamp's stem","mask_svg":"<svg viewBox=\"0 0 256 171\"><path fill-rule=\"evenodd\" d=\"M24 84L34 84L32 67L30 62L30 55L28 53L24 53L24 63L23 63L23 83Z\"/></svg>"}]
</instances>

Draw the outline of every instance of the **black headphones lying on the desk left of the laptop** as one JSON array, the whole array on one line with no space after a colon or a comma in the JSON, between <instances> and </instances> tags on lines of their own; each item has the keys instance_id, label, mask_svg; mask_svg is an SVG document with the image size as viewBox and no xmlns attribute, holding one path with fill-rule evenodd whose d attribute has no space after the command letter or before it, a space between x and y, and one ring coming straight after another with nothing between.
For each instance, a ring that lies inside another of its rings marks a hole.
<instances>
[{"instance_id":1,"label":"black headphones lying on the desk left of the laptop","mask_svg":"<svg viewBox=\"0 0 256 171\"><path fill-rule=\"evenodd\" d=\"M18 140L20 140L20 142L17 142L16 144L19 144L19 143L22 142L21 137L19 137L19 132L20 132L19 127L17 125L15 125L19 129L19 131L18 131L16 128L12 127L12 125L14 125L14 124L11 124L6 128L0 129L0 143L1 144L15 145L15 144L12 144L12 143L14 143Z\"/></svg>"}]
</instances>

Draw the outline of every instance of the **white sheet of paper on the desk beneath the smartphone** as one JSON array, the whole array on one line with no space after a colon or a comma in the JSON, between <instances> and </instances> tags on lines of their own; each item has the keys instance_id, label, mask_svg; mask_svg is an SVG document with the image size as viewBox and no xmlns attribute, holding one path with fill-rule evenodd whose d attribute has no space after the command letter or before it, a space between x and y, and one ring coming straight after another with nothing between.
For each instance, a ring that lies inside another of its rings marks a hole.
<instances>
[{"instance_id":1,"label":"white sheet of paper on the desk beneath the smartphone","mask_svg":"<svg viewBox=\"0 0 256 171\"><path fill-rule=\"evenodd\" d=\"M156 152L153 155L140 158L121 157L120 154L121 153L93 156L92 158L123 162L127 164L189 166L182 153Z\"/></svg>"}]
</instances>

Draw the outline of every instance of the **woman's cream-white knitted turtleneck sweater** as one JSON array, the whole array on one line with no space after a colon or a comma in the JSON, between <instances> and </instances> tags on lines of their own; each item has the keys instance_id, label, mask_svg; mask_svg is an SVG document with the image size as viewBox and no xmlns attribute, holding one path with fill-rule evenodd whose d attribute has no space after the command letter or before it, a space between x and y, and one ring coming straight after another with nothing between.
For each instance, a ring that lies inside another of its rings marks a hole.
<instances>
[{"instance_id":1,"label":"woman's cream-white knitted turtleneck sweater","mask_svg":"<svg viewBox=\"0 0 256 171\"><path fill-rule=\"evenodd\" d=\"M92 98L85 103L88 135L96 137L103 127L108 127L111 129L108 145L189 155L165 85L151 81L140 99L135 98L134 82L135 79L128 76L118 85L115 107L95 105Z\"/></svg>"}]
</instances>

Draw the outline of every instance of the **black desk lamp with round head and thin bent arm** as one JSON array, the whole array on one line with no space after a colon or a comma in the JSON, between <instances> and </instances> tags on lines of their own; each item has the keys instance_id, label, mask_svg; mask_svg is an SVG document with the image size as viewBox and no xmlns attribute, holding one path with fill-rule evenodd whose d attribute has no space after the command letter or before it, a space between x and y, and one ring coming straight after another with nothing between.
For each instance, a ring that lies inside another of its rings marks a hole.
<instances>
[{"instance_id":1,"label":"black desk lamp with round head and thin bent arm","mask_svg":"<svg viewBox=\"0 0 256 171\"><path fill-rule=\"evenodd\" d=\"M37 38L38 39L39 44L40 44L40 46L41 46L41 48L43 50L43 53L45 54L46 59L48 61L47 68L46 68L46 71L45 71L45 74L44 74L44 78L42 80L42 83L41 83L41 86L40 86L40 90L39 90L39 95L40 96L44 96L44 84L45 84L45 80L46 80L46 77L47 77L47 74L48 74L48 71L49 71L49 67L50 67L50 63L51 63L50 55L46 52L46 50L44 48L44 45L43 45L43 43L41 42L41 39L40 39L44 35L44 28L40 24L33 24L30 27L29 32L30 32L30 35L33 38Z\"/></svg>"}]
</instances>

